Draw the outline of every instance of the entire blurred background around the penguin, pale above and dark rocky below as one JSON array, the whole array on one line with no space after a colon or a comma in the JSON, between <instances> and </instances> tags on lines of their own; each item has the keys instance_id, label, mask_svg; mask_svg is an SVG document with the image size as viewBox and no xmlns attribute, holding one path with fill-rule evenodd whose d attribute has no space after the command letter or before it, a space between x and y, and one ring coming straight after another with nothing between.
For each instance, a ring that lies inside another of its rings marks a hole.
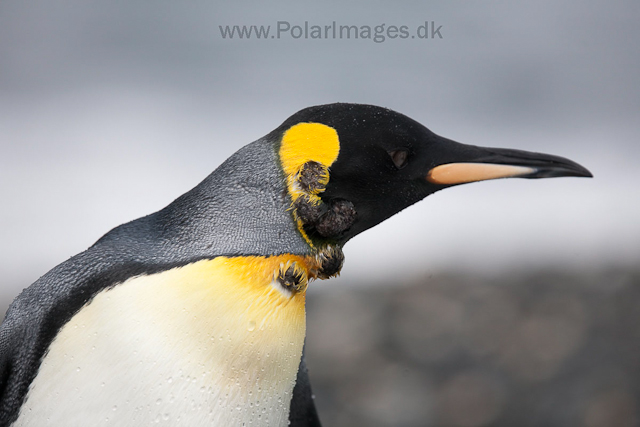
<instances>
[{"instance_id":1,"label":"entire blurred background around the penguin, pale above and dark rocky below","mask_svg":"<svg viewBox=\"0 0 640 427\"><path fill-rule=\"evenodd\" d=\"M326 424L637 425L639 19L631 0L4 0L2 311L295 111L377 104L595 178L457 187L350 242L342 276L309 294ZM442 39L219 28L278 21L433 21Z\"/></svg>"}]
</instances>

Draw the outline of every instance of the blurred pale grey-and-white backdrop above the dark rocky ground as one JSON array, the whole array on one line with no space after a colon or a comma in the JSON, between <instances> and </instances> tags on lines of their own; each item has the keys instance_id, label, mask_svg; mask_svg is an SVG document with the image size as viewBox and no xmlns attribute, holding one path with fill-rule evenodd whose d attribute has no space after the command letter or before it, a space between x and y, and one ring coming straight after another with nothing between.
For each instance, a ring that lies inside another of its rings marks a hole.
<instances>
[{"instance_id":1,"label":"blurred pale grey-and-white backdrop above the dark rocky ground","mask_svg":"<svg viewBox=\"0 0 640 427\"><path fill-rule=\"evenodd\" d=\"M385 24L435 38L224 39ZM429 197L350 242L342 283L640 258L640 3L0 3L0 296L156 211L295 111L361 102L448 138L549 152L592 180ZM284 24L281 24L284 25ZM337 282L340 285L340 281Z\"/></svg>"}]
</instances>

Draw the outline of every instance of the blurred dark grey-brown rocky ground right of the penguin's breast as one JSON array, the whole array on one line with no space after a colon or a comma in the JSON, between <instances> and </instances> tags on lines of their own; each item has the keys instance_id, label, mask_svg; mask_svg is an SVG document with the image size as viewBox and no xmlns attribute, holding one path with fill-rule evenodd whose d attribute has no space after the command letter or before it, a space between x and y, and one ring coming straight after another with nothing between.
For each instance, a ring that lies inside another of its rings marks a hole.
<instances>
[{"instance_id":1,"label":"blurred dark grey-brown rocky ground right of the penguin's breast","mask_svg":"<svg viewBox=\"0 0 640 427\"><path fill-rule=\"evenodd\" d=\"M640 270L439 275L307 301L326 426L640 425Z\"/></svg>"}]
</instances>

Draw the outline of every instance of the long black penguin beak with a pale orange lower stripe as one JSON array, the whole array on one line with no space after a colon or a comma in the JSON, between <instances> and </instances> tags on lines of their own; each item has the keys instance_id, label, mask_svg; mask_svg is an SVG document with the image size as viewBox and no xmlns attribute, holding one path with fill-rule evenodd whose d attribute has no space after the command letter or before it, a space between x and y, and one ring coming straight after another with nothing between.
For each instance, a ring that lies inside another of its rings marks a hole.
<instances>
[{"instance_id":1,"label":"long black penguin beak with a pale orange lower stripe","mask_svg":"<svg viewBox=\"0 0 640 427\"><path fill-rule=\"evenodd\" d=\"M443 158L426 175L433 184L456 185L497 178L593 177L585 167L564 157L442 139Z\"/></svg>"}]
</instances>

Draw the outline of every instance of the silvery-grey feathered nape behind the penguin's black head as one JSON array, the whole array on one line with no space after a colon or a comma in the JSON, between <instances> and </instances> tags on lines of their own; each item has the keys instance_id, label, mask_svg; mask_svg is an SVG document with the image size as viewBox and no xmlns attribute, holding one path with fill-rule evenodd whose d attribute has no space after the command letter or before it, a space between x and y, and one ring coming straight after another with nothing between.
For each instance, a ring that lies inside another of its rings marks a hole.
<instances>
[{"instance_id":1,"label":"silvery-grey feathered nape behind the penguin's black head","mask_svg":"<svg viewBox=\"0 0 640 427\"><path fill-rule=\"evenodd\" d=\"M287 213L279 163L272 142L249 144L167 208L115 228L97 245L159 262L307 254L310 248Z\"/></svg>"}]
</instances>

